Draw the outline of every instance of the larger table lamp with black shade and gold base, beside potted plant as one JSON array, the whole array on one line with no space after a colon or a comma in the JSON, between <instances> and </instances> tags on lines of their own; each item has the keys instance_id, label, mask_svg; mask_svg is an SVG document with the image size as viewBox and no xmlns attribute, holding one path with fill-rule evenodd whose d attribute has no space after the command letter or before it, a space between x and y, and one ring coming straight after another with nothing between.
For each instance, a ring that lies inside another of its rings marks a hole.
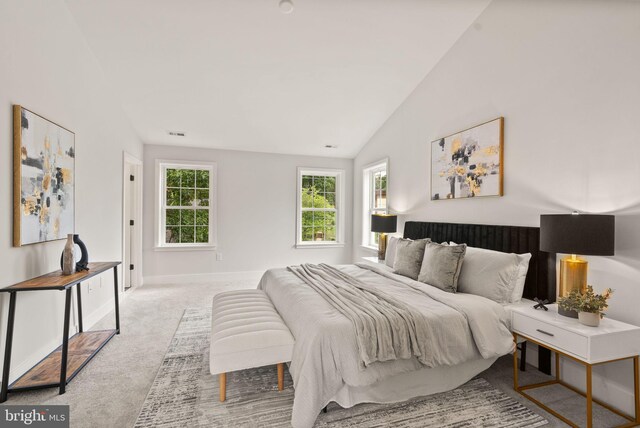
<instances>
[{"instance_id":1,"label":"larger table lamp with black shade and gold base, beside potted plant","mask_svg":"<svg viewBox=\"0 0 640 428\"><path fill-rule=\"evenodd\" d=\"M566 254L560 260L558 297L572 290L587 290L588 262L578 256L613 256L615 216L600 214L544 214L540 216L540 250ZM558 308L564 316L578 318L575 311Z\"/></svg>"}]
</instances>

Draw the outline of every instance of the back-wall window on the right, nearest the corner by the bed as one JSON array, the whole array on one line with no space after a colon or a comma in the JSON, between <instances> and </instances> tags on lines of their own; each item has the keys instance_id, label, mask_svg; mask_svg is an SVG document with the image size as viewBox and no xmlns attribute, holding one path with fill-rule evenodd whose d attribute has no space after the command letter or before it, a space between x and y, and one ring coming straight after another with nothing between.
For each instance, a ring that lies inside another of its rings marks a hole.
<instances>
[{"instance_id":1,"label":"back-wall window on the right, nearest the corner by the bed","mask_svg":"<svg viewBox=\"0 0 640 428\"><path fill-rule=\"evenodd\" d=\"M344 171L298 168L297 246L342 245Z\"/></svg>"}]
</instances>

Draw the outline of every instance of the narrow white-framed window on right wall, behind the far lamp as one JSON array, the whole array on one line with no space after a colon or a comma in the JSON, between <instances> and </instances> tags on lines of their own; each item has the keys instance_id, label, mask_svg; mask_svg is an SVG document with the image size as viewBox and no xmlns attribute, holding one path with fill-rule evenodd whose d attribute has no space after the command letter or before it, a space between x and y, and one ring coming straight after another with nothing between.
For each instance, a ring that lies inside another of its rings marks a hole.
<instances>
[{"instance_id":1,"label":"narrow white-framed window on right wall, behind the far lamp","mask_svg":"<svg viewBox=\"0 0 640 428\"><path fill-rule=\"evenodd\" d=\"M387 159L366 166L363 170L362 193L363 219L362 219L362 245L370 248L378 248L378 233L371 232L371 215L386 214L387 204Z\"/></svg>"}]
</instances>

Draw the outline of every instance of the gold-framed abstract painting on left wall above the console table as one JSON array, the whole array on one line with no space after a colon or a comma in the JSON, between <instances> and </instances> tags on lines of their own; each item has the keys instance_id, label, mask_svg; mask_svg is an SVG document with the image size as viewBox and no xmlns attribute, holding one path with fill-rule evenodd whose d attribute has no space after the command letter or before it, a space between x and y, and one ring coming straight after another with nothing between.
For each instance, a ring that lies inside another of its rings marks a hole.
<instances>
[{"instance_id":1,"label":"gold-framed abstract painting on left wall above the console table","mask_svg":"<svg viewBox=\"0 0 640 428\"><path fill-rule=\"evenodd\" d=\"M13 245L66 238L75 222L75 135L13 106Z\"/></svg>"}]
</instances>

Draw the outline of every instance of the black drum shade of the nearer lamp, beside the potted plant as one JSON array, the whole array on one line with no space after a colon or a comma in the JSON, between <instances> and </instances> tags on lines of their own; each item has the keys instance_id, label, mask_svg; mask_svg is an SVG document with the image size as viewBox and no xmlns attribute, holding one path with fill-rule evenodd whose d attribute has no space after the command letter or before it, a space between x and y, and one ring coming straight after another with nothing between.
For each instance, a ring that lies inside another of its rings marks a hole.
<instances>
[{"instance_id":1,"label":"black drum shade of the nearer lamp, beside the potted plant","mask_svg":"<svg viewBox=\"0 0 640 428\"><path fill-rule=\"evenodd\" d=\"M613 256L615 216L544 214L540 216L540 250L549 253Z\"/></svg>"}]
</instances>

